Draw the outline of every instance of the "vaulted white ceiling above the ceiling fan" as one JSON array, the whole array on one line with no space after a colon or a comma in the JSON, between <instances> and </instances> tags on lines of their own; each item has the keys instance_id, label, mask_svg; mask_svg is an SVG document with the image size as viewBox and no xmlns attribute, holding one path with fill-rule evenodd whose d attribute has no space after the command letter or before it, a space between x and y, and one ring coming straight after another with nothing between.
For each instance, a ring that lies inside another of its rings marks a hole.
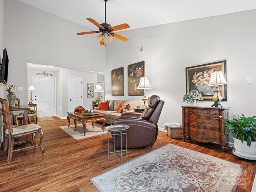
<instances>
[{"instance_id":1,"label":"vaulted white ceiling above the ceiling fan","mask_svg":"<svg viewBox=\"0 0 256 192\"><path fill-rule=\"evenodd\" d=\"M93 30L104 23L103 0L18 0ZM108 0L106 22L130 29L256 9L256 0Z\"/></svg>"}]
</instances>

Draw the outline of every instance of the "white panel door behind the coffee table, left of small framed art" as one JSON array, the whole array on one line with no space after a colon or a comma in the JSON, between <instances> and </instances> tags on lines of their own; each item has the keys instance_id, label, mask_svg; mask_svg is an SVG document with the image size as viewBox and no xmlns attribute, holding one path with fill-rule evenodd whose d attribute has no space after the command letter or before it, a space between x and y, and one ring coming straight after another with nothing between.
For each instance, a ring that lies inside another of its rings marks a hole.
<instances>
[{"instance_id":1,"label":"white panel door behind the coffee table, left of small framed art","mask_svg":"<svg viewBox=\"0 0 256 192\"><path fill-rule=\"evenodd\" d=\"M77 106L82 106L82 77L68 77L68 110L74 111Z\"/></svg>"}]
</instances>

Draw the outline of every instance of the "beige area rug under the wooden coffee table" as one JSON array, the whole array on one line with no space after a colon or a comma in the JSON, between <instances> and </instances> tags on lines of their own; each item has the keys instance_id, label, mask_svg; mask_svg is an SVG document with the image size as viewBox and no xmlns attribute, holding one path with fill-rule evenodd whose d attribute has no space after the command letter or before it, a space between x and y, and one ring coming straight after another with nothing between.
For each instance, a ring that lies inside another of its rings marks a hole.
<instances>
[{"instance_id":1,"label":"beige area rug under the wooden coffee table","mask_svg":"<svg viewBox=\"0 0 256 192\"><path fill-rule=\"evenodd\" d=\"M94 123L94 127L92 127L92 123L86 124L86 134L84 136L84 128L82 124L77 124L76 130L74 130L75 126L70 125L60 127L64 132L72 136L75 140L80 140L88 137L93 137L97 135L106 134L107 131L102 131L102 125L98 125Z\"/></svg>"}]
</instances>

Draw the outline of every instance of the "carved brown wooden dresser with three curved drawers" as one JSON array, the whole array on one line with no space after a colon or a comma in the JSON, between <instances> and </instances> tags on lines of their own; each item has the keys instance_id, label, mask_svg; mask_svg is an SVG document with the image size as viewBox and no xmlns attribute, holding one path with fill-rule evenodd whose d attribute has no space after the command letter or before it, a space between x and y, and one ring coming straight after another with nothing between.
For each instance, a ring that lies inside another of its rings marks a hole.
<instances>
[{"instance_id":1,"label":"carved brown wooden dresser with three curved drawers","mask_svg":"<svg viewBox=\"0 0 256 192\"><path fill-rule=\"evenodd\" d=\"M220 116L228 118L228 109L182 106L182 141L193 138L199 142L216 142L221 145L222 151L226 151L228 136Z\"/></svg>"}]
</instances>

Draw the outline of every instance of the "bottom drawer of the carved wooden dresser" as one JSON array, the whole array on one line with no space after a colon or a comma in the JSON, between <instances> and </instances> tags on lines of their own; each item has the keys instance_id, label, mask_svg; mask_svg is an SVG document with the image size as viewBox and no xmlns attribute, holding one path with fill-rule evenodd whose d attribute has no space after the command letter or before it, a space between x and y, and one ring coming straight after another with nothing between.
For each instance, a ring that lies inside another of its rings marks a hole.
<instances>
[{"instance_id":1,"label":"bottom drawer of the carved wooden dresser","mask_svg":"<svg viewBox=\"0 0 256 192\"><path fill-rule=\"evenodd\" d=\"M185 126L185 135L192 136L193 138L204 139L204 140L220 140L220 131L196 128L193 126Z\"/></svg>"}]
</instances>

